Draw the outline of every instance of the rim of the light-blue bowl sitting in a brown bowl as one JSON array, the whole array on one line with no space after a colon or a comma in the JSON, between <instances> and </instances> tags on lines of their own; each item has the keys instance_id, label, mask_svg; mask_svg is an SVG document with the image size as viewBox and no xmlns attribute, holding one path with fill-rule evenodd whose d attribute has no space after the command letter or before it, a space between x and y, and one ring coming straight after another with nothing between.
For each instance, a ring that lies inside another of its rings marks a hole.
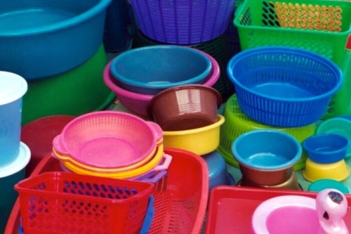
<instances>
[{"instance_id":1,"label":"rim of the light-blue bowl sitting in a brown bowl","mask_svg":"<svg viewBox=\"0 0 351 234\"><path fill-rule=\"evenodd\" d=\"M252 165L251 163L249 163L247 160L245 160L243 157L241 157L238 154L236 146L237 146L237 143L239 141L243 140L243 138L246 138L246 136L249 136L252 134L267 134L267 133L281 135L296 145L297 151L291 160L289 160L288 162L285 162L283 164L279 164L278 166L277 165L274 165L274 166L265 165L265 166L258 167L256 165ZM295 137L291 136L290 134L287 134L284 131L279 131L279 130L274 130L274 129L256 129L256 130L247 131L246 133L238 136L234 140L234 142L232 143L232 153L234 155L234 158L239 163L239 165L244 164L246 167L250 167L250 168L258 169L258 170L277 170L277 169L286 169L288 167L292 167L294 164L296 164L296 162L298 162L298 160L300 160L302 152L303 152L303 149L301 147L301 144Z\"/></svg>"}]
</instances>

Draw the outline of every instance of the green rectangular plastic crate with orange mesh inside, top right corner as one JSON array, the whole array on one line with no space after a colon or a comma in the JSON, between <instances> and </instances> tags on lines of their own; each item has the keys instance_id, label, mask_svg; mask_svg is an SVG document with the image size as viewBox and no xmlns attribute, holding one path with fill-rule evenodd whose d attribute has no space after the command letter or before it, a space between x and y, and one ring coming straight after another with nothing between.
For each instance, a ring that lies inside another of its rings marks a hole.
<instances>
[{"instance_id":1,"label":"green rectangular plastic crate with orange mesh inside, top right corner","mask_svg":"<svg viewBox=\"0 0 351 234\"><path fill-rule=\"evenodd\" d=\"M324 118L350 114L351 73L345 50L351 33L351 3L335 0L244 0L235 12L242 50L258 46L305 48L329 58L344 72L342 89Z\"/></svg>"}]
</instances>

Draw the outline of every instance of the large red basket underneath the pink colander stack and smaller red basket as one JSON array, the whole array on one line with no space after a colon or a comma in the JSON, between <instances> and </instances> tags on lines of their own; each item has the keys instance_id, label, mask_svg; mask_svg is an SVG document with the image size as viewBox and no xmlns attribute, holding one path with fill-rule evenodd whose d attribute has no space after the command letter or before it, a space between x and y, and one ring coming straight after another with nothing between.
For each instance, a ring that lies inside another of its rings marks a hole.
<instances>
[{"instance_id":1,"label":"large red basket underneath the pink colander stack and smaller red basket","mask_svg":"<svg viewBox=\"0 0 351 234\"><path fill-rule=\"evenodd\" d=\"M167 175L154 186L154 218L149 233L198 234L208 201L206 162L199 155L185 150L165 148L164 152L172 156L172 162ZM60 171L59 161L51 155L39 162L32 176L47 171ZM18 234L19 220L20 202L17 200L5 234Z\"/></svg>"}]
</instances>

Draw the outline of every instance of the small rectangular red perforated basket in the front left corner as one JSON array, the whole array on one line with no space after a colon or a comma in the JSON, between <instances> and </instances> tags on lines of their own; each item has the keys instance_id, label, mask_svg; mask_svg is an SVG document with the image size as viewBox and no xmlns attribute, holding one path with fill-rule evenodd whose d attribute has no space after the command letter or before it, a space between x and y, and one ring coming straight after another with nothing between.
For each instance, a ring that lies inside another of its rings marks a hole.
<instances>
[{"instance_id":1,"label":"small rectangular red perforated basket in the front left corner","mask_svg":"<svg viewBox=\"0 0 351 234\"><path fill-rule=\"evenodd\" d=\"M15 185L24 233L139 233L154 185L47 172Z\"/></svg>"}]
</instances>

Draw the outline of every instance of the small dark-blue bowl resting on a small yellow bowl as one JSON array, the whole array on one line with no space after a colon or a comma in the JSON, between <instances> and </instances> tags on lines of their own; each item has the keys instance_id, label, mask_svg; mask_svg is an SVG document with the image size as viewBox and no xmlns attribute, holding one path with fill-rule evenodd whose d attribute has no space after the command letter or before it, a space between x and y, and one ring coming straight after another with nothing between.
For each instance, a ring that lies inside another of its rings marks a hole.
<instances>
[{"instance_id":1,"label":"small dark-blue bowl resting on a small yellow bowl","mask_svg":"<svg viewBox=\"0 0 351 234\"><path fill-rule=\"evenodd\" d=\"M339 134L318 134L303 141L303 148L313 162L330 164L343 160L349 140Z\"/></svg>"}]
</instances>

